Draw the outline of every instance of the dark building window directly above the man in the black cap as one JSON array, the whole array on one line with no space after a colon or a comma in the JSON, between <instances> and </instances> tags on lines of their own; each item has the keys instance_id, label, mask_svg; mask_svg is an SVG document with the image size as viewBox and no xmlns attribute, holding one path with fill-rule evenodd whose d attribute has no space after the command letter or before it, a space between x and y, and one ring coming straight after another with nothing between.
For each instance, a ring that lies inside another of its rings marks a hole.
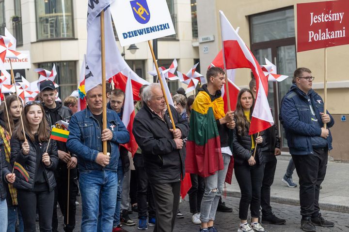
<instances>
[{"instance_id":1,"label":"dark building window directly above the man in the black cap","mask_svg":"<svg viewBox=\"0 0 349 232\"><path fill-rule=\"evenodd\" d=\"M76 77L76 62L75 61L60 61L39 63L39 68L51 70L53 64L56 65L57 76L55 82L60 86L57 88L60 99L64 99L77 89L78 81Z\"/></svg>"}]
</instances>

